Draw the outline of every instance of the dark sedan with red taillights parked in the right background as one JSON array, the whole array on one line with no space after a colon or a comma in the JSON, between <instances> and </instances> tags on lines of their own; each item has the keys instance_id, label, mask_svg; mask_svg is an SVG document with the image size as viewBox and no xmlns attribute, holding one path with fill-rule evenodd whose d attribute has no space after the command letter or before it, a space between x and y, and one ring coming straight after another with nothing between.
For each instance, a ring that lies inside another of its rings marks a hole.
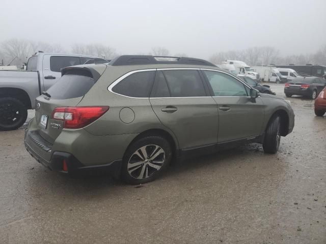
<instances>
[{"instance_id":1,"label":"dark sedan with red taillights parked in the right background","mask_svg":"<svg viewBox=\"0 0 326 244\"><path fill-rule=\"evenodd\" d=\"M292 95L305 96L316 99L321 90L326 86L326 80L319 77L296 77L284 85L286 97Z\"/></svg>"}]
</instances>

